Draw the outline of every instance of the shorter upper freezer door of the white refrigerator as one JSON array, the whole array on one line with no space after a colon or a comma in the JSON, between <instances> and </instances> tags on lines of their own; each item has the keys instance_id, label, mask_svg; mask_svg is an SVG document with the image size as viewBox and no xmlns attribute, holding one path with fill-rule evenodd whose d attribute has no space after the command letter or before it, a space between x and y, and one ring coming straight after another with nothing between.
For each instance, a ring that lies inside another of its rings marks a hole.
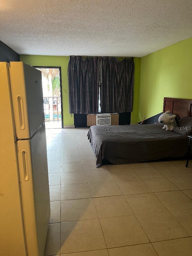
<instances>
[{"instance_id":1,"label":"shorter upper freezer door of the white refrigerator","mask_svg":"<svg viewBox=\"0 0 192 256\"><path fill-rule=\"evenodd\" d=\"M23 62L10 62L9 70L16 136L28 139L45 120L41 71Z\"/></svg>"}]
</instances>

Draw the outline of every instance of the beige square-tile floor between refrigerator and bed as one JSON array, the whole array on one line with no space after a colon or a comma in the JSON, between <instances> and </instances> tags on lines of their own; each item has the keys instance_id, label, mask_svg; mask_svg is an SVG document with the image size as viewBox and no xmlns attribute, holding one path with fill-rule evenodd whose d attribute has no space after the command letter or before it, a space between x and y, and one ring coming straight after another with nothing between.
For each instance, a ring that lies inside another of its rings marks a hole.
<instances>
[{"instance_id":1,"label":"beige square-tile floor between refrigerator and bed","mask_svg":"<svg viewBox=\"0 0 192 256\"><path fill-rule=\"evenodd\" d=\"M192 162L96 168L87 128L47 129L45 256L191 256Z\"/></svg>"}]
</instances>

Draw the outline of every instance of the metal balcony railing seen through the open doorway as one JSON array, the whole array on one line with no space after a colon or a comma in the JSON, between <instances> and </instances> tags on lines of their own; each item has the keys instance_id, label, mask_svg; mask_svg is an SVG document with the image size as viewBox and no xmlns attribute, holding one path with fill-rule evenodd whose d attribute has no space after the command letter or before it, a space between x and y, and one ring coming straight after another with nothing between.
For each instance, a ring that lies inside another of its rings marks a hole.
<instances>
[{"instance_id":1,"label":"metal balcony railing seen through the open doorway","mask_svg":"<svg viewBox=\"0 0 192 256\"><path fill-rule=\"evenodd\" d=\"M45 122L61 121L61 97L43 97Z\"/></svg>"}]
</instances>

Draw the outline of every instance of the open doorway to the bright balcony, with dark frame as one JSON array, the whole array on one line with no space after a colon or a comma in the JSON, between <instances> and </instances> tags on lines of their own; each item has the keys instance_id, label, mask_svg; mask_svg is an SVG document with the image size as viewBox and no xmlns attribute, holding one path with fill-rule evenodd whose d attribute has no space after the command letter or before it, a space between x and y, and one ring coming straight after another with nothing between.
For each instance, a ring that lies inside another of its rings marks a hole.
<instances>
[{"instance_id":1,"label":"open doorway to the bright balcony, with dark frame","mask_svg":"<svg viewBox=\"0 0 192 256\"><path fill-rule=\"evenodd\" d=\"M63 128L61 67L35 67L42 73L45 128Z\"/></svg>"}]
</instances>

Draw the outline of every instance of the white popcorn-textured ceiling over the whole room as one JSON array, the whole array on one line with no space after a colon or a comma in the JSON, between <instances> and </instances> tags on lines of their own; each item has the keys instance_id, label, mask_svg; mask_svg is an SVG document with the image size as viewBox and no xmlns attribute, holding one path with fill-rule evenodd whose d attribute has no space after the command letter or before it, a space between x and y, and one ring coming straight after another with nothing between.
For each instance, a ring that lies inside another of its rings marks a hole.
<instances>
[{"instance_id":1,"label":"white popcorn-textured ceiling over the whole room","mask_svg":"<svg viewBox=\"0 0 192 256\"><path fill-rule=\"evenodd\" d=\"M190 37L191 0L0 0L19 54L141 57Z\"/></svg>"}]
</instances>

